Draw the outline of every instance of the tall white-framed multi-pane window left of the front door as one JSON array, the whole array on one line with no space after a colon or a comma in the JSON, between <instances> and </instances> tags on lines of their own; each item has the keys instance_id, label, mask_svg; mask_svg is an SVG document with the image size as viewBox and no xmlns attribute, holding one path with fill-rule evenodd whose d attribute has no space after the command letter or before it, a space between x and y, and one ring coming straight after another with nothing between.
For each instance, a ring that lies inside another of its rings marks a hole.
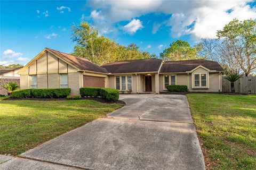
<instances>
[{"instance_id":1,"label":"tall white-framed multi-pane window left of the front door","mask_svg":"<svg viewBox=\"0 0 256 170\"><path fill-rule=\"evenodd\" d=\"M117 90L132 90L131 75L116 76L115 80Z\"/></svg>"}]
</instances>

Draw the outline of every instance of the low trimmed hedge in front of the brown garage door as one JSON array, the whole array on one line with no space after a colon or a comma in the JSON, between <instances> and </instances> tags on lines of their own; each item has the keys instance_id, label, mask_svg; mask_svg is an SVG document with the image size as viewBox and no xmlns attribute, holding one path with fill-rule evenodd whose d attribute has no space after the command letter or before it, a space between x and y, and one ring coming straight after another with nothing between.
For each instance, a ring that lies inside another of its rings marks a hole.
<instances>
[{"instance_id":1,"label":"low trimmed hedge in front of the brown garage door","mask_svg":"<svg viewBox=\"0 0 256 170\"><path fill-rule=\"evenodd\" d=\"M80 95L81 97L102 97L105 98L107 101L117 101L119 99L119 91L116 89L109 89L109 88L91 88L91 87L84 87L80 88Z\"/></svg>"}]
</instances>

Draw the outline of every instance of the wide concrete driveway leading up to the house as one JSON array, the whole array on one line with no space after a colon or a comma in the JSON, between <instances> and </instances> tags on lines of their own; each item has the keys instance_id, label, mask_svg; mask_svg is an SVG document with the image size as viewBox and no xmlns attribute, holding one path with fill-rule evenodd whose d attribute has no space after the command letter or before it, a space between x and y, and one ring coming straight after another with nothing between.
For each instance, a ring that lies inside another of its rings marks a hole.
<instances>
[{"instance_id":1,"label":"wide concrete driveway leading up to the house","mask_svg":"<svg viewBox=\"0 0 256 170\"><path fill-rule=\"evenodd\" d=\"M186 96L121 95L120 99L127 105L107 118L21 157L83 169L205 169Z\"/></svg>"}]
</instances>

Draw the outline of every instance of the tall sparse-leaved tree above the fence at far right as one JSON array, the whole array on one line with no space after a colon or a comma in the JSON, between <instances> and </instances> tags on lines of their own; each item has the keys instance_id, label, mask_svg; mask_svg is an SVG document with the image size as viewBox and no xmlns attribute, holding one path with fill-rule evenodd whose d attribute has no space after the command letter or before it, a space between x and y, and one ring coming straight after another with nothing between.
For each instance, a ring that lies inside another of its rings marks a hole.
<instances>
[{"instance_id":1,"label":"tall sparse-leaved tree above the fence at far right","mask_svg":"<svg viewBox=\"0 0 256 170\"><path fill-rule=\"evenodd\" d=\"M234 19L223 30L217 31L217 37L224 39L226 46L233 50L233 55L248 76L256 69L256 21Z\"/></svg>"}]
</instances>

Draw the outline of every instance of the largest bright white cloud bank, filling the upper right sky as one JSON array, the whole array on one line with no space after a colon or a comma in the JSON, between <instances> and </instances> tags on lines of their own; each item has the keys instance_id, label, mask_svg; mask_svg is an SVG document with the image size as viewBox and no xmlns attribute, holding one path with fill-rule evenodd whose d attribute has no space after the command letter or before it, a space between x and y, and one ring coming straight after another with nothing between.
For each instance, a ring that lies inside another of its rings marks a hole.
<instances>
[{"instance_id":1,"label":"largest bright white cloud bank, filling the upper right sky","mask_svg":"<svg viewBox=\"0 0 256 170\"><path fill-rule=\"evenodd\" d=\"M255 19L256 6L251 7L247 5L248 2L253 2L253 0L98 0L87 2L87 6L94 8L94 11L100 9L100 15L105 17L105 22L109 23L107 25L109 28L113 28L119 21L130 21L149 13L164 13L170 15L170 19L163 24L170 27L172 37L191 35L198 39L215 37L216 31L222 29L225 24L234 18L238 20ZM155 24L152 33L156 33L160 27L161 25Z\"/></svg>"}]
</instances>

